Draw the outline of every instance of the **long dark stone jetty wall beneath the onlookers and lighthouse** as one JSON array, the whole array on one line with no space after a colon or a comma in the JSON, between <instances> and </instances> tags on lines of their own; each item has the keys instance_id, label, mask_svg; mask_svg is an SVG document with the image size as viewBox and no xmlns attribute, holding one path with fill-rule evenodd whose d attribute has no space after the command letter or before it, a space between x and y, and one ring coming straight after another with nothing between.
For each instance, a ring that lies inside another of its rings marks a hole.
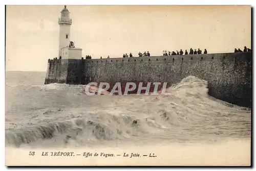
<instances>
[{"instance_id":1,"label":"long dark stone jetty wall beneath the onlookers and lighthouse","mask_svg":"<svg viewBox=\"0 0 256 171\"><path fill-rule=\"evenodd\" d=\"M136 83L137 87L141 82L143 86L149 82L167 82L169 87L187 76L206 80L209 95L217 99L251 107L251 53L49 59L45 84L106 82L111 91L116 82L120 82L123 92L127 82ZM160 85L159 90L161 88ZM130 93L136 92L137 88Z\"/></svg>"}]
</instances>

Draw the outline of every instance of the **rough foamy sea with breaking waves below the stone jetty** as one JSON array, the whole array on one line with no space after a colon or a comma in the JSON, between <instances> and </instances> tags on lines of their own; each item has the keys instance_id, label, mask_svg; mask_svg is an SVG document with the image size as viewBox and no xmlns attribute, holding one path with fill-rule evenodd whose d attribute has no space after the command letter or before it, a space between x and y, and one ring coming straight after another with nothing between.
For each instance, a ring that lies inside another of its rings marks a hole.
<instances>
[{"instance_id":1,"label":"rough foamy sea with breaking waves below the stone jetty","mask_svg":"<svg viewBox=\"0 0 256 171\"><path fill-rule=\"evenodd\" d=\"M164 95L92 95L44 85L46 72L6 72L6 146L119 146L249 140L251 110L207 94L194 76Z\"/></svg>"}]
</instances>

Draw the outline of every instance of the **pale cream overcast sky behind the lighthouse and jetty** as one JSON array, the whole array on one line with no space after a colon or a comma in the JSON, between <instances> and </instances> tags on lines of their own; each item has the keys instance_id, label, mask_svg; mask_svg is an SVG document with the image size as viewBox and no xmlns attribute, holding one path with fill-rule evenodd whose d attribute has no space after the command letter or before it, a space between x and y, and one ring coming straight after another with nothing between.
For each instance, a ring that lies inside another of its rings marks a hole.
<instances>
[{"instance_id":1,"label":"pale cream overcast sky behind the lighthouse and jetty","mask_svg":"<svg viewBox=\"0 0 256 171\"><path fill-rule=\"evenodd\" d=\"M251 48L250 6L67 6L71 41L92 58L124 53ZM46 71L58 57L63 6L7 6L6 70Z\"/></svg>"}]
</instances>

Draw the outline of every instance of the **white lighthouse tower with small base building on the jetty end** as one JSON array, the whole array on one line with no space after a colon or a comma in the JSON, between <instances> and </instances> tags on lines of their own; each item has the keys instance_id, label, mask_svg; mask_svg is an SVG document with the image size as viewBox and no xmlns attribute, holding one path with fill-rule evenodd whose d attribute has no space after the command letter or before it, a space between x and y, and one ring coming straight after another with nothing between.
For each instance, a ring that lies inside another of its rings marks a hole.
<instances>
[{"instance_id":1,"label":"white lighthouse tower with small base building on the jetty end","mask_svg":"<svg viewBox=\"0 0 256 171\"><path fill-rule=\"evenodd\" d=\"M70 30L72 19L70 12L65 5L60 12L59 24L59 57L61 59L81 59L82 49L75 47L73 41L70 40Z\"/></svg>"}]
</instances>

